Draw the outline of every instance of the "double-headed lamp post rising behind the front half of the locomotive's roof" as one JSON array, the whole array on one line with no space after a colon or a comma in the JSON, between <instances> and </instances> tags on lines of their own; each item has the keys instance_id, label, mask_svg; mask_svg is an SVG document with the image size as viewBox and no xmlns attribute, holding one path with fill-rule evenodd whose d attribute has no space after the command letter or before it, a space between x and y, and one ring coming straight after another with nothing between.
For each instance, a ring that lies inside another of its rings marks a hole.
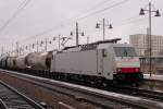
<instances>
[{"instance_id":1,"label":"double-headed lamp post rising behind the front half of the locomotive's roof","mask_svg":"<svg viewBox=\"0 0 163 109\"><path fill-rule=\"evenodd\" d=\"M100 25L102 25L102 29L103 29L103 40L105 39L105 26L108 26L110 29L113 28L112 24L106 24L105 23L105 19L102 20L102 23L97 23L96 28L100 28Z\"/></svg>"}]
</instances>

